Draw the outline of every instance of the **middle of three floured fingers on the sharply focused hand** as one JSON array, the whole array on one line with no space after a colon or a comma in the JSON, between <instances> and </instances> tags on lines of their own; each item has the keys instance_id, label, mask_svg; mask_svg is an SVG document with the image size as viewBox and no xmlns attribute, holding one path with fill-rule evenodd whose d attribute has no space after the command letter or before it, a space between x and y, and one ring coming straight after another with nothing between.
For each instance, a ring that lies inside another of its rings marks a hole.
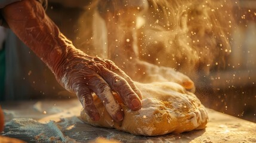
<instances>
[{"instance_id":1,"label":"middle of three floured fingers on the sharply focused hand","mask_svg":"<svg viewBox=\"0 0 256 143\"><path fill-rule=\"evenodd\" d=\"M120 105L116 102L112 90L102 77L95 74L95 76L89 80L88 86L100 98L106 107L107 112L115 122L120 122L124 119L124 113L122 112Z\"/></svg>"}]
</instances>

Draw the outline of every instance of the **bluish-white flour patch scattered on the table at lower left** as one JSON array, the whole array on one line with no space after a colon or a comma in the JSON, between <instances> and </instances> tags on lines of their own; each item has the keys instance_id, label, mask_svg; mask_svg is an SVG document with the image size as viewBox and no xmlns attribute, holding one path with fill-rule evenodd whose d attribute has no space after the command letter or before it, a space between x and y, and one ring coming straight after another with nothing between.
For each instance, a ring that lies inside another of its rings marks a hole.
<instances>
[{"instance_id":1,"label":"bluish-white flour patch scattered on the table at lower left","mask_svg":"<svg viewBox=\"0 0 256 143\"><path fill-rule=\"evenodd\" d=\"M33 138L34 142L76 142L69 136L65 136L61 131L62 128L54 121L39 123L33 119L13 119L5 123L5 128L2 135L14 138L24 136Z\"/></svg>"}]
</instances>

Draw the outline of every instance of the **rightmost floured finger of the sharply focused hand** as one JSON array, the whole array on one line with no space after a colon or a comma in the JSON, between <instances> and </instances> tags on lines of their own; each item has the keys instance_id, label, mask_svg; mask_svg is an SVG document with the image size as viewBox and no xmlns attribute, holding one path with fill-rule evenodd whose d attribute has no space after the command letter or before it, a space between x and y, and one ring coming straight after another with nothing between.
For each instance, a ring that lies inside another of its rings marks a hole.
<instances>
[{"instance_id":1,"label":"rightmost floured finger of the sharply focused hand","mask_svg":"<svg viewBox=\"0 0 256 143\"><path fill-rule=\"evenodd\" d=\"M118 92L122 100L131 110L138 110L141 108L140 98L123 77L108 69L103 69L101 74L103 79L109 83L114 91Z\"/></svg>"}]
</instances>

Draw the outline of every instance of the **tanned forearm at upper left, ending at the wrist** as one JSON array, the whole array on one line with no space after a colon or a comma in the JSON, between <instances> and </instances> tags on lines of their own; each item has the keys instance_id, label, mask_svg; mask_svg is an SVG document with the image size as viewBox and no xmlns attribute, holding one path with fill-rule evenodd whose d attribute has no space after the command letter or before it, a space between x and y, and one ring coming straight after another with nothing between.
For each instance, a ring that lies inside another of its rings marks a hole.
<instances>
[{"instance_id":1,"label":"tanned forearm at upper left, ending at the wrist","mask_svg":"<svg viewBox=\"0 0 256 143\"><path fill-rule=\"evenodd\" d=\"M18 38L53 71L73 48L37 1L13 3L2 10L2 15Z\"/></svg>"}]
</instances>

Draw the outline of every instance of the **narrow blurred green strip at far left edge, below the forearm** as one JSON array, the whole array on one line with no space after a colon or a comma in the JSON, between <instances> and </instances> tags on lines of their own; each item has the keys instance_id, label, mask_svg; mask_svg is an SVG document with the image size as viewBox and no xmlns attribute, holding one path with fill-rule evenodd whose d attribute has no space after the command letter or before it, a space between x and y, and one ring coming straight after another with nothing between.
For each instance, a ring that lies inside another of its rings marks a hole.
<instances>
[{"instance_id":1,"label":"narrow blurred green strip at far left edge, below the forearm","mask_svg":"<svg viewBox=\"0 0 256 143\"><path fill-rule=\"evenodd\" d=\"M0 51L0 101L4 100L5 83L5 49Z\"/></svg>"}]
</instances>

